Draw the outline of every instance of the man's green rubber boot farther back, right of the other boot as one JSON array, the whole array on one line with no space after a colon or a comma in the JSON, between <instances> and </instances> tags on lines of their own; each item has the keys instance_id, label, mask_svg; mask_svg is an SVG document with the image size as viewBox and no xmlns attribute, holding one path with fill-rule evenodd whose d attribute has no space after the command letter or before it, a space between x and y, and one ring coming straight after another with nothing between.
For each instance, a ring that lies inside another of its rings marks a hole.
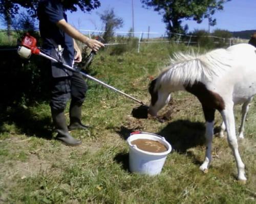
<instances>
[{"instance_id":1,"label":"man's green rubber boot farther back, right of the other boot","mask_svg":"<svg viewBox=\"0 0 256 204\"><path fill-rule=\"evenodd\" d=\"M69 117L70 117L70 125L68 126L69 130L86 130L89 125L84 125L81 122L82 116L82 105L74 104L71 101L70 109L69 109Z\"/></svg>"}]
</instances>

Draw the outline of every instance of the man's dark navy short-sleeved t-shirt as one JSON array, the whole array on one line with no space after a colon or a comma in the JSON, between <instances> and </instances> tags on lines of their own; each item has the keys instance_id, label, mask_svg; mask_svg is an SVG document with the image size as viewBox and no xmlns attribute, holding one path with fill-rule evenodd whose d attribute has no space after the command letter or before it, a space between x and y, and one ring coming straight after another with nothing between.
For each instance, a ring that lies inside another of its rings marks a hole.
<instances>
[{"instance_id":1,"label":"man's dark navy short-sleeved t-shirt","mask_svg":"<svg viewBox=\"0 0 256 204\"><path fill-rule=\"evenodd\" d=\"M59 29L56 25L61 19L67 21L67 15L59 0L41 0L37 9L39 18L39 30L43 39L42 49L52 57L57 57L57 45L63 49L62 61L72 66L74 60L74 41L68 34ZM63 69L58 63L52 62L52 75L54 78L67 77L72 75L71 71Z\"/></svg>"}]
</instances>

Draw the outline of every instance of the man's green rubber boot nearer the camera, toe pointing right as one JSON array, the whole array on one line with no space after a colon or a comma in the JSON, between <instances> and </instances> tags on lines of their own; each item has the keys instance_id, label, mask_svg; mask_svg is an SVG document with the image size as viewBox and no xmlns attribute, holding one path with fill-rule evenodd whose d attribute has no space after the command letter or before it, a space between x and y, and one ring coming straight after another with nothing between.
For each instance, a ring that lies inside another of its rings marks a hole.
<instances>
[{"instance_id":1,"label":"man's green rubber boot nearer the camera, toe pointing right","mask_svg":"<svg viewBox=\"0 0 256 204\"><path fill-rule=\"evenodd\" d=\"M80 140L73 138L69 134L64 111L63 110L56 111L51 109L51 112L52 112L53 123L58 133L58 135L56 136L56 139L70 146L77 146L81 144L82 142Z\"/></svg>"}]
</instances>

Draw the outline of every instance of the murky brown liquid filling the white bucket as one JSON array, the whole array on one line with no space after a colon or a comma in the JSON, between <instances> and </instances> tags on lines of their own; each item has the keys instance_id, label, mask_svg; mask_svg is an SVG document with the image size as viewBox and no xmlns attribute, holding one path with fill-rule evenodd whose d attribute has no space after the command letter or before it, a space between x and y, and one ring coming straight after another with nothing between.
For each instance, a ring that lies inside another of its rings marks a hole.
<instances>
[{"instance_id":1,"label":"murky brown liquid filling the white bucket","mask_svg":"<svg viewBox=\"0 0 256 204\"><path fill-rule=\"evenodd\" d=\"M137 139L131 142L132 145L136 145L139 149L144 151L150 151L154 153L160 153L167 151L166 146L161 142L148 139Z\"/></svg>"}]
</instances>

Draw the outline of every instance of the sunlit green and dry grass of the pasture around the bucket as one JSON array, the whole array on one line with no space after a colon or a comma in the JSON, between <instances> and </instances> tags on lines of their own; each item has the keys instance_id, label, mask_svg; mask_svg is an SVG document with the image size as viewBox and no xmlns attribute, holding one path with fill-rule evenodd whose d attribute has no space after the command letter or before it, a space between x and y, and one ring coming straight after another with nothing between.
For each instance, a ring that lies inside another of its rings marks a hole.
<instances>
[{"instance_id":1,"label":"sunlit green and dry grass of the pasture around the bucket","mask_svg":"<svg viewBox=\"0 0 256 204\"><path fill-rule=\"evenodd\" d=\"M134 97L149 102L150 78L166 66L169 55L185 46L142 45L140 54L100 52L91 65L93 75ZM120 51L120 50L119 50ZM110 55L112 54L112 55ZM207 174L199 170L204 159L204 118L199 101L186 92L173 94L164 122L136 119L138 106L120 94L88 81L82 121L89 131L72 131L82 145L68 147L52 139L47 103L8 111L0 131L0 203L255 203L256 115L251 103L245 139L239 141L248 182L236 180L236 164L226 138L214 137L213 161ZM236 121L240 121L236 107ZM68 118L68 110L67 110ZM216 126L220 125L216 113ZM237 125L238 126L238 125ZM164 136L174 150L158 176L129 171L125 139L133 131Z\"/></svg>"}]
</instances>

